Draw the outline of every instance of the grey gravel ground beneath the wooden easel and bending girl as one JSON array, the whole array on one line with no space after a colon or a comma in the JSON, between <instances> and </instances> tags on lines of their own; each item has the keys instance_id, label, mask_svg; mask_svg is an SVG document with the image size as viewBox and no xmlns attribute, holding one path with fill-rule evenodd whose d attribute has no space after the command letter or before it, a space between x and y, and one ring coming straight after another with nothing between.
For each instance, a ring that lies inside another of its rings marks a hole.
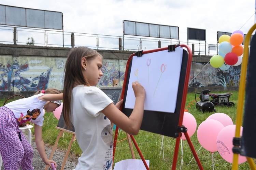
<instances>
[{"instance_id":1,"label":"grey gravel ground beneath the wooden easel and bending girl","mask_svg":"<svg viewBox=\"0 0 256 170\"><path fill-rule=\"evenodd\" d=\"M34 136L32 135L32 139L33 138L34 138ZM44 170L45 164L39 155L39 152L37 150L37 146L35 145L34 140L32 140L32 147L34 149L33 163L32 163L34 170ZM45 145L45 152L46 152L46 155L48 158L52 153L52 148L53 148L53 146ZM57 163L57 170L59 170L61 168L65 154L66 154L66 151L60 150L60 149L56 149L54 152L53 160ZM73 169L75 169L75 166L77 163L78 163L78 157L75 157L74 155L69 154L64 169L65 170L73 170ZM4 167L2 166L2 168L0 168L0 169L4 170ZM51 168L48 168L48 169L51 169Z\"/></svg>"}]
</instances>

